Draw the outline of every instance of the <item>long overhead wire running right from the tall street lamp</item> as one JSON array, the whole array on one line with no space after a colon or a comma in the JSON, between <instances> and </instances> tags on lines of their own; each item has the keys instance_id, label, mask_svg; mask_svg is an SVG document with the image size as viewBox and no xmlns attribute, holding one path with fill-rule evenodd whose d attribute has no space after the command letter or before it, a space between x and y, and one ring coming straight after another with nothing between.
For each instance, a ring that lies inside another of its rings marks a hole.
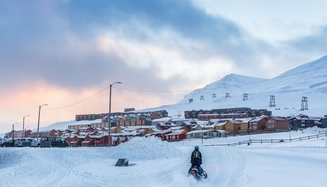
<instances>
[{"instance_id":1,"label":"long overhead wire running right from the tall street lamp","mask_svg":"<svg viewBox=\"0 0 327 187\"><path fill-rule=\"evenodd\" d=\"M281 77L275 77L275 78L272 78L272 79L265 79L265 80L249 82L249 83L243 83L243 84L237 84L237 85L231 85L231 86L222 86L222 87L213 87L213 88L199 88L199 89L195 89L195 90L209 90L209 89L219 89L219 88L228 88L228 87L237 87L237 86L243 86L243 85L248 85L248 84L255 84L255 83L259 83L259 82L266 82L266 81L285 78L285 77L298 75L298 74L302 74L302 73L312 72L312 71L322 69L322 68L327 68L327 66L322 66L322 67L318 67L318 68L311 69L311 70L308 70L308 71L298 72L298 73L295 73L295 74L285 75L285 76L281 76ZM129 88L122 88L122 87L114 87L114 88L129 90L129 91L140 91L140 92L190 92L190 91L194 91L194 90L141 90L141 89L129 89Z\"/></svg>"}]
</instances>

